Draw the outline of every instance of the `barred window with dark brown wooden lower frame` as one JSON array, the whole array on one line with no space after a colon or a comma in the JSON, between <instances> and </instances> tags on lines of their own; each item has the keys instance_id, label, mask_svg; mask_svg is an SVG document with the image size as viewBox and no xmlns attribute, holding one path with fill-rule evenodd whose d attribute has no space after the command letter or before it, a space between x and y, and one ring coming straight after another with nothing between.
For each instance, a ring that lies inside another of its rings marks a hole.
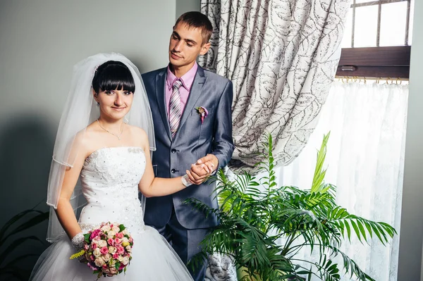
<instances>
[{"instance_id":1,"label":"barred window with dark brown wooden lower frame","mask_svg":"<svg viewBox=\"0 0 423 281\"><path fill-rule=\"evenodd\" d=\"M413 0L354 0L338 76L408 78Z\"/></svg>"}]
</instances>

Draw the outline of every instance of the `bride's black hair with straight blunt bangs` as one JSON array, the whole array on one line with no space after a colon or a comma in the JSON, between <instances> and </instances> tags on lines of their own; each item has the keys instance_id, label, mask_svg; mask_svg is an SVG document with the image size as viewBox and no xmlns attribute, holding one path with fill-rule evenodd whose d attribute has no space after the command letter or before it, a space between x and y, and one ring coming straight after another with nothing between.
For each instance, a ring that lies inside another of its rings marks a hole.
<instances>
[{"instance_id":1,"label":"bride's black hair with straight blunt bangs","mask_svg":"<svg viewBox=\"0 0 423 281\"><path fill-rule=\"evenodd\" d=\"M92 79L96 93L114 89L135 92L135 82L128 67L121 61L106 61L97 68Z\"/></svg>"}]
</instances>

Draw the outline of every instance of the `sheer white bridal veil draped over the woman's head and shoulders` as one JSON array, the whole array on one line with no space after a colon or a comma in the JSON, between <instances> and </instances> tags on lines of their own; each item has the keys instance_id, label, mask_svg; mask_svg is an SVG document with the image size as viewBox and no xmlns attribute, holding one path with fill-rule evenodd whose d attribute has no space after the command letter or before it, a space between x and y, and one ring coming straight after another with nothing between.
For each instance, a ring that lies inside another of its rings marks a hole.
<instances>
[{"instance_id":1,"label":"sheer white bridal veil draped over the woman's head and shoulders","mask_svg":"<svg viewBox=\"0 0 423 281\"><path fill-rule=\"evenodd\" d=\"M132 73L135 82L135 92L133 105L126 115L128 124L141 127L149 137L150 151L156 150L154 142L154 127L152 113L149 108L149 101L142 83L140 71L131 63L128 58L121 54L97 54L85 58L77 63L73 68L73 78L71 89L68 94L66 106L63 109L59 130L57 131L56 142L54 144L53 160L51 161L49 187L47 192L47 204L50 208L49 230L47 241L54 242L64 230L59 223L54 208L57 208L63 176L66 169L72 168L76 155L71 155L75 136L78 132L85 134L87 125L94 122L99 117L99 110L95 106L92 96L92 78L99 65L106 61L121 61ZM75 150L73 150L75 151ZM78 151L78 148L76 149ZM75 211L85 204L82 197L80 181L75 187L71 196L71 205ZM142 199L145 199L142 196ZM144 207L145 202L142 202Z\"/></svg>"}]
</instances>

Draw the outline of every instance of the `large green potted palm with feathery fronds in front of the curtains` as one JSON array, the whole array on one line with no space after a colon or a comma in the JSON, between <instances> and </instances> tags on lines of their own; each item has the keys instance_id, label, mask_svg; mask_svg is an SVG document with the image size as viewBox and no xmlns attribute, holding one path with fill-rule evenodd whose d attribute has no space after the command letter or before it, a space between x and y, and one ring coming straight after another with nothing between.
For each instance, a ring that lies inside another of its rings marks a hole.
<instances>
[{"instance_id":1,"label":"large green potted palm with feathery fronds in front of the curtains","mask_svg":"<svg viewBox=\"0 0 423 281\"><path fill-rule=\"evenodd\" d=\"M311 189L277 187L271 135L264 142L266 161L258 164L264 177L249 173L229 179L223 170L217 174L214 209L196 199L189 204L217 216L220 224L202 241L202 253L192 263L217 252L233 257L237 268L244 268L242 280L263 281L341 280L341 270L357 280L374 280L357 263L340 250L345 239L355 235L360 242L377 237L382 244L396 235L386 223L355 216L335 201L336 187L324 182L326 144L324 135L317 152L317 164ZM259 189L258 187L262 188ZM282 243L281 243L282 240ZM319 260L301 260L300 249L318 251ZM334 261L341 256L343 264ZM308 264L308 266L304 266Z\"/></svg>"}]
</instances>

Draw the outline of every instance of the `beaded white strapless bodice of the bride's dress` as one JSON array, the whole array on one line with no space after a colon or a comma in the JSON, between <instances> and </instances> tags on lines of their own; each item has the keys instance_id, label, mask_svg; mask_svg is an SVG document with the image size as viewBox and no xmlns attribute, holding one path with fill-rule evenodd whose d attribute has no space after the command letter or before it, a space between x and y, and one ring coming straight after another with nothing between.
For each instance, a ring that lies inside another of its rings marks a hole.
<instances>
[{"instance_id":1,"label":"beaded white strapless bodice of the bride's dress","mask_svg":"<svg viewBox=\"0 0 423 281\"><path fill-rule=\"evenodd\" d=\"M142 231L138 183L144 171L145 154L140 147L109 147L90 154L80 174L87 199L79 219L82 229L110 221L123 223L131 232Z\"/></svg>"}]
</instances>

